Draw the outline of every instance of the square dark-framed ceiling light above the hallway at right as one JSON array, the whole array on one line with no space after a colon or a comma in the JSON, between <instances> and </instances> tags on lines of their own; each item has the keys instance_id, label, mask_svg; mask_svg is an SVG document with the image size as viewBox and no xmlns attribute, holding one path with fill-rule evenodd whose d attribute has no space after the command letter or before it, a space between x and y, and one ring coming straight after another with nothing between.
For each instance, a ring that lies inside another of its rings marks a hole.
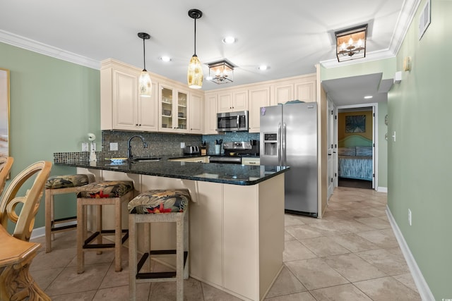
<instances>
[{"instance_id":1,"label":"square dark-framed ceiling light above the hallway at right","mask_svg":"<svg viewBox=\"0 0 452 301\"><path fill-rule=\"evenodd\" d=\"M339 62L366 57L367 24L340 30L334 34Z\"/></svg>"}]
</instances>

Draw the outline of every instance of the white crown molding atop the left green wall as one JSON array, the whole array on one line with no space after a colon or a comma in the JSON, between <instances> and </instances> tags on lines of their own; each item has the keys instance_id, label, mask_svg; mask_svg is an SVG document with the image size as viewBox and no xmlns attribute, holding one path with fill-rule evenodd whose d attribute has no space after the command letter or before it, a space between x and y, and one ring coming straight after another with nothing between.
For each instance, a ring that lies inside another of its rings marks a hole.
<instances>
[{"instance_id":1,"label":"white crown molding atop the left green wall","mask_svg":"<svg viewBox=\"0 0 452 301\"><path fill-rule=\"evenodd\" d=\"M4 30L0 30L0 42L37 52L38 54L44 54L45 56L52 56L55 59L69 61L71 63L76 63L78 65L97 70L100 69L100 61L95 61L93 59L87 58L86 56L80 56L64 49L52 47L47 44L37 42L33 39L20 37L19 35L14 35L11 32L6 32Z\"/></svg>"}]
</instances>

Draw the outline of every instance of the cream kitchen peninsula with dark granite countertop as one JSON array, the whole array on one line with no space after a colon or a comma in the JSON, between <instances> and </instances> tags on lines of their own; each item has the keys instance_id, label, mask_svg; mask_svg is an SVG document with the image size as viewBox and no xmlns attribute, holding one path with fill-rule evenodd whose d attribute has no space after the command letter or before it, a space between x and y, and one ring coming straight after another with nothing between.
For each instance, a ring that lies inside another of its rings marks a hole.
<instances>
[{"instance_id":1,"label":"cream kitchen peninsula with dark granite countertop","mask_svg":"<svg viewBox=\"0 0 452 301\"><path fill-rule=\"evenodd\" d=\"M283 268L284 173L289 168L169 159L55 164L92 173L96 180L133 180L137 192L188 188L194 201L189 207L190 276L242 300L263 300ZM174 247L171 227L153 226L154 250Z\"/></svg>"}]
</instances>

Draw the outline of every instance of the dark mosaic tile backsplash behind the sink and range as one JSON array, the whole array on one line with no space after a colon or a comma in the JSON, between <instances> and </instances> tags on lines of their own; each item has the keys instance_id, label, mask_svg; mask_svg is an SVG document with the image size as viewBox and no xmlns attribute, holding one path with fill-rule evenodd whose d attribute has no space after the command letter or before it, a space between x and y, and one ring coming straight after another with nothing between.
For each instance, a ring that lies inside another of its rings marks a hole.
<instances>
[{"instance_id":1,"label":"dark mosaic tile backsplash behind the sink and range","mask_svg":"<svg viewBox=\"0 0 452 301\"><path fill-rule=\"evenodd\" d=\"M181 142L186 146L201 146L205 141L207 154L215 153L215 140L222 139L223 142L259 140L259 133L226 132L219 135L182 135L169 133L136 133L119 130L102 130L102 152L96 152L97 160L104 158L123 158L127 156L128 142L134 135L141 135L148 147L143 147L140 137L131 140L131 154L133 156L182 156L184 149ZM110 143L117 142L118 150L110 151ZM54 153L54 161L88 161L89 152L61 152Z\"/></svg>"}]
</instances>

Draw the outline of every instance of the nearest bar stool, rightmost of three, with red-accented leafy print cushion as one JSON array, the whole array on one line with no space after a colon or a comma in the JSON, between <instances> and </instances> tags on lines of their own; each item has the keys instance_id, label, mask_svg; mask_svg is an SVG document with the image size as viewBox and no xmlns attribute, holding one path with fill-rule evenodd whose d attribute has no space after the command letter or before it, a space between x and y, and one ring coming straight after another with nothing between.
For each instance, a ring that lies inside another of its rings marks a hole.
<instances>
[{"instance_id":1,"label":"nearest bar stool, rightmost of three, with red-accented leafy print cushion","mask_svg":"<svg viewBox=\"0 0 452 301\"><path fill-rule=\"evenodd\" d=\"M136 300L136 284L146 282L176 281L177 300L184 300L184 278L189 277L187 258L189 255L189 201L190 192L186 189L148 190L131 200L129 209L129 295ZM151 250L150 223L176 223L176 250ZM145 224L146 252L137 263L138 223ZM151 255L176 254L176 271L141 272Z\"/></svg>"}]
</instances>

